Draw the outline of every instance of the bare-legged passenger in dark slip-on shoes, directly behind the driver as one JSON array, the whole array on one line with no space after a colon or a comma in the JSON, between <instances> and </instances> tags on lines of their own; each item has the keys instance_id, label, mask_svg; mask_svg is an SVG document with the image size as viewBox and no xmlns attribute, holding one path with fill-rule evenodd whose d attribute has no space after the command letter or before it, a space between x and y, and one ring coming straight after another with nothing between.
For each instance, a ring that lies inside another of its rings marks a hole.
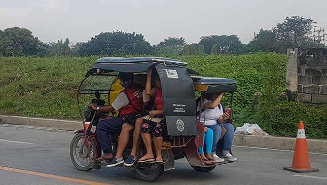
<instances>
[{"instance_id":1,"label":"bare-legged passenger in dark slip-on shoes, directly behind the driver","mask_svg":"<svg viewBox=\"0 0 327 185\"><path fill-rule=\"evenodd\" d=\"M146 106L148 106L148 102L151 100L151 97L149 95L146 94L146 91L143 90L142 93L142 97L143 97L143 110L148 109ZM143 115L144 116L144 115ZM115 158L117 160L112 160L106 167L113 167L113 166L117 166L121 163L124 162L125 166L133 166L135 161L137 160L137 142L138 142L138 137L141 134L141 125L143 123L142 118L138 118L135 122L135 126L132 123L126 122L123 124L122 126L122 131L119 135L119 140L118 140L118 147L117 147L117 153ZM124 161L120 161L120 159L123 158L123 154L125 151L125 148L128 144L129 141L129 137L130 137L130 132L134 129L133 132L133 147L132 147L132 151L130 153L130 155L128 156L128 158Z\"/></svg>"}]
</instances>

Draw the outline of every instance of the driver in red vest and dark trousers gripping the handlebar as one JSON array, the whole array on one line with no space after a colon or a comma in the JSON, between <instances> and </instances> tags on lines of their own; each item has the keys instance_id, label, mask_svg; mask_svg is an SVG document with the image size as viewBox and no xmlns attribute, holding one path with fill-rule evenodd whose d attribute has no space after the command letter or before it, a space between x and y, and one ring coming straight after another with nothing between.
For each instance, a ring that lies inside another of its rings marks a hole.
<instances>
[{"instance_id":1,"label":"driver in red vest and dark trousers gripping the handlebar","mask_svg":"<svg viewBox=\"0 0 327 185\"><path fill-rule=\"evenodd\" d=\"M100 119L97 124L96 135L103 151L103 155L95 160L97 162L114 158L112 153L113 134L119 134L125 122L135 124L137 118L131 118L129 115L136 115L142 110L143 88L141 85L134 83L133 73L120 72L118 78L121 80L125 89L111 105L101 107L94 104L89 105L93 110L97 110L100 113L112 112L114 110L118 110L119 112L117 118L107 117L106 119Z\"/></svg>"}]
</instances>

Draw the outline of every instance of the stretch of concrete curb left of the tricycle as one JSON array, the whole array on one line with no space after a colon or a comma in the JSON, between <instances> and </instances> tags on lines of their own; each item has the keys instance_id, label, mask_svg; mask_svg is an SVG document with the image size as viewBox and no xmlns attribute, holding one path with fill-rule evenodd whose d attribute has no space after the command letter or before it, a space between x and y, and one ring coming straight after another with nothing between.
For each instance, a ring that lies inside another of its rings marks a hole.
<instances>
[{"instance_id":1,"label":"stretch of concrete curb left of the tricycle","mask_svg":"<svg viewBox=\"0 0 327 185\"><path fill-rule=\"evenodd\" d=\"M2 116L0 115L0 123L12 124L12 125L29 125L36 127L48 127L60 130L79 130L83 128L82 122L68 121L68 120L56 120L56 119L44 119L44 118L30 118L22 116Z\"/></svg>"}]
</instances>

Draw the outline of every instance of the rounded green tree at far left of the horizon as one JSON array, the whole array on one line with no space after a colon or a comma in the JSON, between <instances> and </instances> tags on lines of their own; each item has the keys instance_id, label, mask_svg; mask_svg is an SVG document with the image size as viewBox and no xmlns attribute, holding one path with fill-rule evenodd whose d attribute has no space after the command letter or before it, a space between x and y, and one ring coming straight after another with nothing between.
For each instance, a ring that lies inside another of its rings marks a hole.
<instances>
[{"instance_id":1,"label":"rounded green tree at far left of the horizon","mask_svg":"<svg viewBox=\"0 0 327 185\"><path fill-rule=\"evenodd\" d=\"M0 55L45 56L47 45L26 28L12 27L0 32Z\"/></svg>"}]
</instances>

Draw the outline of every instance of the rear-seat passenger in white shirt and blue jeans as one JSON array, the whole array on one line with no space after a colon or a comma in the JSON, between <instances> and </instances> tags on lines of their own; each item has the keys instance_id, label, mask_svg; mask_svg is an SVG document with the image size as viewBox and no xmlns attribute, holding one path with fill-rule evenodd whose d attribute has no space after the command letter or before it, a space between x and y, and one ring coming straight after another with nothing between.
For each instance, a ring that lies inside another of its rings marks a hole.
<instances>
[{"instance_id":1,"label":"rear-seat passenger in white shirt and blue jeans","mask_svg":"<svg viewBox=\"0 0 327 185\"><path fill-rule=\"evenodd\" d=\"M231 123L225 123L230 119L230 114L226 113L224 106L220 103L225 93L210 93L205 94L203 107L205 108L201 119L205 115L205 126L209 127L214 132L213 139L213 155L212 157L216 160L221 160L221 158L227 161L237 161L237 159L230 154L231 146L233 144L234 138L234 126ZM227 132L221 140L222 127L224 127ZM217 143L219 143L217 145ZM222 149L222 155L218 157L216 151Z\"/></svg>"}]
</instances>

